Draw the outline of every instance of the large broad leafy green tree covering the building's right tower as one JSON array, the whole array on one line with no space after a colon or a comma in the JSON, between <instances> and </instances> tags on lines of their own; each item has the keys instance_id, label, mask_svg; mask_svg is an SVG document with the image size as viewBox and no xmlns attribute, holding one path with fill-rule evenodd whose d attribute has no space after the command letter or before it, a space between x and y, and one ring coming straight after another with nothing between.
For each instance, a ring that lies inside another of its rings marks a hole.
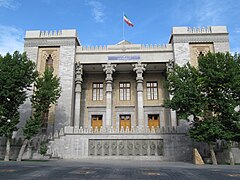
<instances>
[{"instance_id":1,"label":"large broad leafy green tree covering the building's right tower","mask_svg":"<svg viewBox=\"0 0 240 180\"><path fill-rule=\"evenodd\" d=\"M176 110L179 118L193 116L189 134L195 141L208 143L213 164L217 164L213 144L216 140L239 141L240 104L239 56L208 53L199 58L198 67L189 64L169 72L167 88L173 98L165 106Z\"/></svg>"}]
</instances>

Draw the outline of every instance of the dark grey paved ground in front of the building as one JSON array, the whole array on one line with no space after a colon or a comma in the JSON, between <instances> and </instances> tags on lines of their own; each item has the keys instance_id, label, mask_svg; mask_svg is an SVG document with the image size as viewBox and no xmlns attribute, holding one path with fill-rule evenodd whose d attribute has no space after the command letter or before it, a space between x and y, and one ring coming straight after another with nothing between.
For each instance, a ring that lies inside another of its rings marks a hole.
<instances>
[{"instance_id":1,"label":"dark grey paved ground in front of the building","mask_svg":"<svg viewBox=\"0 0 240 180\"><path fill-rule=\"evenodd\" d=\"M0 161L0 180L163 179L240 180L240 165L193 165L156 160Z\"/></svg>"}]
</instances>

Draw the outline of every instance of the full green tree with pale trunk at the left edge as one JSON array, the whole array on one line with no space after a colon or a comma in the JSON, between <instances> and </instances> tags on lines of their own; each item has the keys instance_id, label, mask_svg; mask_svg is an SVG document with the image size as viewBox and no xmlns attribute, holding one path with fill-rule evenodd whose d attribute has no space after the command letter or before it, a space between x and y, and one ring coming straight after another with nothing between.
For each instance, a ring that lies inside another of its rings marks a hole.
<instances>
[{"instance_id":1,"label":"full green tree with pale trunk at the left edge","mask_svg":"<svg viewBox=\"0 0 240 180\"><path fill-rule=\"evenodd\" d=\"M7 138L5 161L9 161L10 140L19 123L18 108L36 76L35 64L26 53L0 56L0 135Z\"/></svg>"}]
</instances>

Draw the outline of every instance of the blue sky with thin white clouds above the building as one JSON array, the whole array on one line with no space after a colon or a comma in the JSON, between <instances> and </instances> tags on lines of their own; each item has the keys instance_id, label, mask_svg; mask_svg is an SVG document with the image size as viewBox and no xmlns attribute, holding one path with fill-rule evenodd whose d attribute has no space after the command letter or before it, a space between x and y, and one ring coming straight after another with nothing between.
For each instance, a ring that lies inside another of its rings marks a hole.
<instances>
[{"instance_id":1,"label":"blue sky with thin white clouds above the building","mask_svg":"<svg viewBox=\"0 0 240 180\"><path fill-rule=\"evenodd\" d=\"M240 53L239 0L0 0L0 54L23 50L26 30L77 29L82 45L168 43L173 26L226 25Z\"/></svg>"}]
</instances>

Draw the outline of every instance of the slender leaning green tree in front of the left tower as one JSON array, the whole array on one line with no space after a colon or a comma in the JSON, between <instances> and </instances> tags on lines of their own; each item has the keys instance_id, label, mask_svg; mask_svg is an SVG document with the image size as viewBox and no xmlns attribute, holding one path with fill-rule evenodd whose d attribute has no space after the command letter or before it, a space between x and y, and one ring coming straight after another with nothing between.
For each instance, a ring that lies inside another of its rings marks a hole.
<instances>
[{"instance_id":1,"label":"slender leaning green tree in front of the left tower","mask_svg":"<svg viewBox=\"0 0 240 180\"><path fill-rule=\"evenodd\" d=\"M17 161L22 160L26 146L39 133L41 127L46 128L49 108L57 102L61 94L60 79L53 75L53 70L50 68L47 68L44 74L36 79L34 87L35 90L31 99L34 112L23 128L25 140L19 151Z\"/></svg>"}]
</instances>

